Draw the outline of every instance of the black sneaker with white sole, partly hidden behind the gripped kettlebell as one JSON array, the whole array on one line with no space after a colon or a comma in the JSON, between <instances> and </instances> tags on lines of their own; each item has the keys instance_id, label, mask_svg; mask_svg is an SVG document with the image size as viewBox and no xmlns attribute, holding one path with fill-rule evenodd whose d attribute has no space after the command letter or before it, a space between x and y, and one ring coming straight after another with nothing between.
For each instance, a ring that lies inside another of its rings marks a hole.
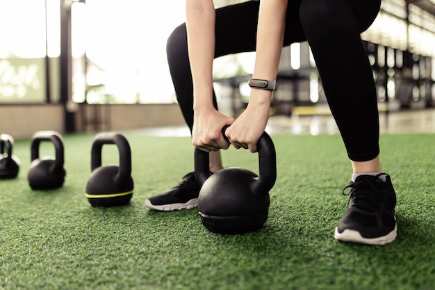
<instances>
[{"instance_id":1,"label":"black sneaker with white sole, partly hidden behind the gripped kettlebell","mask_svg":"<svg viewBox=\"0 0 435 290\"><path fill-rule=\"evenodd\" d=\"M183 177L177 186L167 193L153 196L145 200L145 206L158 211L177 211L179 209L193 209L198 205L198 195L201 184L195 179L193 172Z\"/></svg>"}]
</instances>

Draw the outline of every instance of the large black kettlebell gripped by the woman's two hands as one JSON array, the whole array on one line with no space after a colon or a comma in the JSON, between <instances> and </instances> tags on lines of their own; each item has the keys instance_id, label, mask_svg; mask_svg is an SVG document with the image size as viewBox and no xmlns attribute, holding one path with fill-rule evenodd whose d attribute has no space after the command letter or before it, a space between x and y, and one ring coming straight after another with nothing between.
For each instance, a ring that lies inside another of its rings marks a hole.
<instances>
[{"instance_id":1,"label":"large black kettlebell gripped by the woman's two hands","mask_svg":"<svg viewBox=\"0 0 435 290\"><path fill-rule=\"evenodd\" d=\"M269 191L277 179L277 161L274 144L266 132L258 140L257 150L259 175L239 167L223 168L210 175L208 153L195 148L195 178L202 184L199 216L211 232L251 232L263 227L268 219Z\"/></svg>"}]
</instances>

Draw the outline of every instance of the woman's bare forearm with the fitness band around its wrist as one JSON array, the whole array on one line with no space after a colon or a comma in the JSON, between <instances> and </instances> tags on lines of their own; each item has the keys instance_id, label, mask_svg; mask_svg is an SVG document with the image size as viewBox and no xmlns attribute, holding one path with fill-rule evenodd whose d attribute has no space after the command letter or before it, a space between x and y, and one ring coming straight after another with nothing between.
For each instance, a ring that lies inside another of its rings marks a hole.
<instances>
[{"instance_id":1,"label":"woman's bare forearm with the fitness band around its wrist","mask_svg":"<svg viewBox=\"0 0 435 290\"><path fill-rule=\"evenodd\" d=\"M254 79L277 79L279 58L284 41L287 0L260 2L258 15ZM270 105L272 92L252 89L250 103Z\"/></svg>"}]
</instances>

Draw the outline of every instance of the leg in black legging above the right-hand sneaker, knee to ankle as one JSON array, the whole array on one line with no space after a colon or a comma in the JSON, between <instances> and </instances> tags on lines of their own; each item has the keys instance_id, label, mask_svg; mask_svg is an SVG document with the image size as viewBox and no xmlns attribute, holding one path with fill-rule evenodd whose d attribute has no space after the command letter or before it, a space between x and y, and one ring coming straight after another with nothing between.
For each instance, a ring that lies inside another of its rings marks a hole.
<instances>
[{"instance_id":1,"label":"leg in black legging above the right-hand sneaker, knee to ankle","mask_svg":"<svg viewBox=\"0 0 435 290\"><path fill-rule=\"evenodd\" d=\"M379 0L303 0L300 17L329 106L354 161L379 154L379 118L372 70L360 33Z\"/></svg>"}]
</instances>

